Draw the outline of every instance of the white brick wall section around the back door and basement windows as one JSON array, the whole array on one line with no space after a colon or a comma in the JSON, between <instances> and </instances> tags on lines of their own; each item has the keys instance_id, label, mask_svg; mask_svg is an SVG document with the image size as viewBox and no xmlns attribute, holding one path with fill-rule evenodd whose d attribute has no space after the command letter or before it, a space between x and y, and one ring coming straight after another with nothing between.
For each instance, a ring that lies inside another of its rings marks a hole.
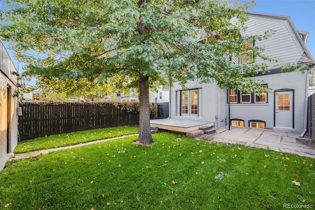
<instances>
[{"instance_id":1,"label":"white brick wall section around the back door and basement windows","mask_svg":"<svg viewBox=\"0 0 315 210\"><path fill-rule=\"evenodd\" d=\"M294 129L302 132L304 130L304 113L306 103L307 73L285 72L253 77L261 79L268 88L274 91L279 89L294 90ZM226 94L226 93L225 93ZM268 103L261 104L230 104L230 119L244 120L244 127L249 127L249 120L265 121L266 128L274 127L275 95L268 94ZM225 98L226 110L228 110L227 97ZM228 112L227 112L228 114Z\"/></svg>"}]
</instances>

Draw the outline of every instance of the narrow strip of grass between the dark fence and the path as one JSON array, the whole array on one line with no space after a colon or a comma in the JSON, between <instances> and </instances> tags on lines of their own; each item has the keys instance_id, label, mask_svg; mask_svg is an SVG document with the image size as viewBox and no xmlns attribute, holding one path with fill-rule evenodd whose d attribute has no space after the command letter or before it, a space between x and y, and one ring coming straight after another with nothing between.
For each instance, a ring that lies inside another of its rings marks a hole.
<instances>
[{"instance_id":1,"label":"narrow strip of grass between the dark fence and the path","mask_svg":"<svg viewBox=\"0 0 315 210\"><path fill-rule=\"evenodd\" d=\"M109 139L139 133L139 129L131 126L102 128L87 131L78 131L60 135L40 137L20 142L14 150L15 154L31 152L40 149L50 149L85 143L94 140Z\"/></svg>"}]
</instances>

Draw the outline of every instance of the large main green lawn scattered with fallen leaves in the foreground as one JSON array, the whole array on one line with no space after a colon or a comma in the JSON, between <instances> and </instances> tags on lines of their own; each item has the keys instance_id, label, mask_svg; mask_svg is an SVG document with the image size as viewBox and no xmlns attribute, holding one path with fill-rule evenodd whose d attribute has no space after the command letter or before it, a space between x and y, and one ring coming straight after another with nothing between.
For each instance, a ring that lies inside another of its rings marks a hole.
<instances>
[{"instance_id":1,"label":"large main green lawn scattered with fallen leaves in the foreground","mask_svg":"<svg viewBox=\"0 0 315 210\"><path fill-rule=\"evenodd\" d=\"M172 133L153 137L151 146L127 137L8 162L0 172L0 208L275 210L287 203L315 205L315 159Z\"/></svg>"}]
</instances>

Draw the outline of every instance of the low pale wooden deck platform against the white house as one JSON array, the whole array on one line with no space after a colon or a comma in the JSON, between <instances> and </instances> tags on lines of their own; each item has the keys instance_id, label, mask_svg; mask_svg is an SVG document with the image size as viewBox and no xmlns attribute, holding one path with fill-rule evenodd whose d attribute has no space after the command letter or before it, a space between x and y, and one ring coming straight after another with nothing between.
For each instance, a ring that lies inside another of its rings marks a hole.
<instances>
[{"instance_id":1,"label":"low pale wooden deck platform against the white house","mask_svg":"<svg viewBox=\"0 0 315 210\"><path fill-rule=\"evenodd\" d=\"M202 121L202 120L189 120L180 118L166 118L150 120L151 126L158 127L158 129L187 133L190 131L198 130L199 128L206 126L214 126L214 122Z\"/></svg>"}]
</instances>

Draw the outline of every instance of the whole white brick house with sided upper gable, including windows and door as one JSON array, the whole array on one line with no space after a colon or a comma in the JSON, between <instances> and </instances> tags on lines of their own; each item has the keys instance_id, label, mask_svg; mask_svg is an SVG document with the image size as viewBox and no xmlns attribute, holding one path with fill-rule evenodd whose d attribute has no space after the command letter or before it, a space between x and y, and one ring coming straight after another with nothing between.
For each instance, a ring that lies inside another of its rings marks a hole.
<instances>
[{"instance_id":1,"label":"whole white brick house with sided upper gable, including windows and door","mask_svg":"<svg viewBox=\"0 0 315 210\"><path fill-rule=\"evenodd\" d=\"M263 46L264 54L276 57L277 64L313 64L314 59L305 43L308 33L297 31L290 17L249 12L244 35L262 34L267 30L275 33L254 45ZM241 59L232 59L240 63ZM260 58L255 63L267 63ZM244 64L246 65L246 64ZM276 94L242 95L238 91L221 89L216 84L199 84L189 81L186 87L175 82L170 89L170 117L175 119L203 120L215 123L215 127L231 126L274 128L305 133L308 97L308 70L281 72L267 63L269 72L253 78L263 80ZM228 92L229 91L229 92ZM228 95L230 94L230 112ZM187 106L185 106L185 103ZM188 110L187 110L188 109Z\"/></svg>"}]
</instances>

